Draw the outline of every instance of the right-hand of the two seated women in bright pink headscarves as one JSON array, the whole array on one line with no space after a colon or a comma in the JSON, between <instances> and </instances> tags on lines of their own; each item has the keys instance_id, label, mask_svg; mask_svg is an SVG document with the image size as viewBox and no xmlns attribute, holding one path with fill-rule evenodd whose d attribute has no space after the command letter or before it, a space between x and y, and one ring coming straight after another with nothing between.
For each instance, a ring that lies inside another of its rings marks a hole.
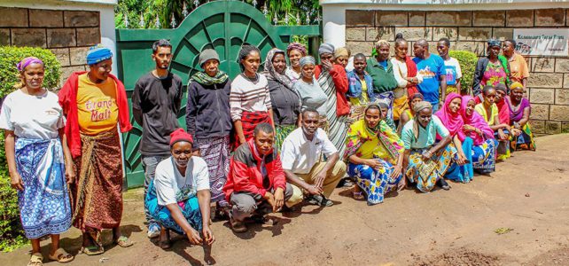
<instances>
[{"instance_id":1,"label":"right-hand of the two seated women in bright pink headscarves","mask_svg":"<svg viewBox=\"0 0 569 266\"><path fill-rule=\"evenodd\" d=\"M463 132L466 136L463 142L463 151L466 155L466 163L463 166L464 178L472 180L474 170L479 174L489 174L495 170L496 142L494 131L490 129L484 118L474 111L474 98L470 95L463 96L462 116L464 120ZM469 152L470 151L470 152Z\"/></svg>"}]
</instances>

